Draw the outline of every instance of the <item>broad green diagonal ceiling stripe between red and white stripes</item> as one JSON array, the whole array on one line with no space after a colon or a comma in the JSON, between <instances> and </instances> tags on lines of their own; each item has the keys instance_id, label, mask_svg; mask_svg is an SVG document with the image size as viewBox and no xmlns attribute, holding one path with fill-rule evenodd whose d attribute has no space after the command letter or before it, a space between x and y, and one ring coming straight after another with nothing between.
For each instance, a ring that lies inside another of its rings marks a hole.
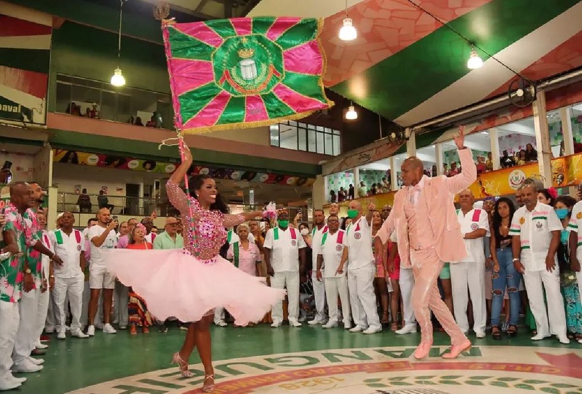
<instances>
[{"instance_id":1,"label":"broad green diagonal ceiling stripe between red and white stripes","mask_svg":"<svg viewBox=\"0 0 582 394\"><path fill-rule=\"evenodd\" d=\"M489 53L497 53L578 2L492 0L453 20L450 26ZM474 33L484 23L488 33ZM469 52L469 45L443 26L331 89L388 119L396 119L469 73ZM484 53L480 55L487 59ZM361 81L367 85L361 87ZM365 98L356 97L350 87L366 91Z\"/></svg>"}]
</instances>

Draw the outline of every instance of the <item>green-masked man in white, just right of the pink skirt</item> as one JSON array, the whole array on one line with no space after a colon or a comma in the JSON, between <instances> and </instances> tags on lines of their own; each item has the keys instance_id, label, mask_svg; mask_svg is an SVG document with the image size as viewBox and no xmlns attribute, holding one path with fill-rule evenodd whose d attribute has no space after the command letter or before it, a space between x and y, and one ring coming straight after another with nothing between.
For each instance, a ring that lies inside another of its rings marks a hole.
<instances>
[{"instance_id":1,"label":"green-masked man in white, just right of the pink skirt","mask_svg":"<svg viewBox=\"0 0 582 394\"><path fill-rule=\"evenodd\" d=\"M271 277L271 286L278 289L287 288L289 300L289 325L301 327L299 323L299 270L305 270L307 247L299 230L289 227L289 213L280 210L277 216L278 226L271 228L265 235L265 262L267 273ZM271 309L273 324L280 327L283 322L283 304L278 301Z\"/></svg>"}]
</instances>

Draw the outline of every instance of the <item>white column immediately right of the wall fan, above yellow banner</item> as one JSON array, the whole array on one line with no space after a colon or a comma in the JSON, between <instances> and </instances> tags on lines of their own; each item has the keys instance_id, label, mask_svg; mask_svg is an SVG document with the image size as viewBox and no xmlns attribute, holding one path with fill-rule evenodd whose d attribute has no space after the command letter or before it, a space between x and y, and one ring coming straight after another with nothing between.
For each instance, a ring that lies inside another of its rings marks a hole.
<instances>
[{"instance_id":1,"label":"white column immediately right of the wall fan, above yellow banner","mask_svg":"<svg viewBox=\"0 0 582 394\"><path fill-rule=\"evenodd\" d=\"M544 177L544 187L552 185L552 149L549 145L548 118L546 117L545 92L538 92L533 103L535 144L538 151L540 174Z\"/></svg>"}]
</instances>

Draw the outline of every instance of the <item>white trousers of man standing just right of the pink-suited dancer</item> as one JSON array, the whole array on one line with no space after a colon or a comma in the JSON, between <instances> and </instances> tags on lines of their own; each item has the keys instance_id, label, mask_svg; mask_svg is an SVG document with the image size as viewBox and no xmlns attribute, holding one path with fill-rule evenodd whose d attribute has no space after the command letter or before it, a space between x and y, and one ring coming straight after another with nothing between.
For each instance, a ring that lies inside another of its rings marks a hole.
<instances>
[{"instance_id":1,"label":"white trousers of man standing just right of the pink-suited dancer","mask_svg":"<svg viewBox=\"0 0 582 394\"><path fill-rule=\"evenodd\" d=\"M473 305L473 330L485 331L487 309L485 307L485 262L451 263L450 285L453 291L455 320L463 332L469 331L467 305L469 293Z\"/></svg>"}]
</instances>

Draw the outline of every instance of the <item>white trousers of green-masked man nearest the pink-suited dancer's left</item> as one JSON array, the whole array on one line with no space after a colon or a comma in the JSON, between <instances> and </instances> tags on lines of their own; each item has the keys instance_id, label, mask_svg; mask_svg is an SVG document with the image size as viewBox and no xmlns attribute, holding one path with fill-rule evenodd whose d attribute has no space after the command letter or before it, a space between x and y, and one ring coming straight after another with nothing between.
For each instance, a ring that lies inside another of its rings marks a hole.
<instances>
[{"instance_id":1,"label":"white trousers of green-masked man nearest the pink-suited dancer's left","mask_svg":"<svg viewBox=\"0 0 582 394\"><path fill-rule=\"evenodd\" d=\"M350 306L354 323L360 327L381 329L376 295L374 293L374 276L376 266L367 264L360 268L347 269L347 286L350 293Z\"/></svg>"}]
</instances>

